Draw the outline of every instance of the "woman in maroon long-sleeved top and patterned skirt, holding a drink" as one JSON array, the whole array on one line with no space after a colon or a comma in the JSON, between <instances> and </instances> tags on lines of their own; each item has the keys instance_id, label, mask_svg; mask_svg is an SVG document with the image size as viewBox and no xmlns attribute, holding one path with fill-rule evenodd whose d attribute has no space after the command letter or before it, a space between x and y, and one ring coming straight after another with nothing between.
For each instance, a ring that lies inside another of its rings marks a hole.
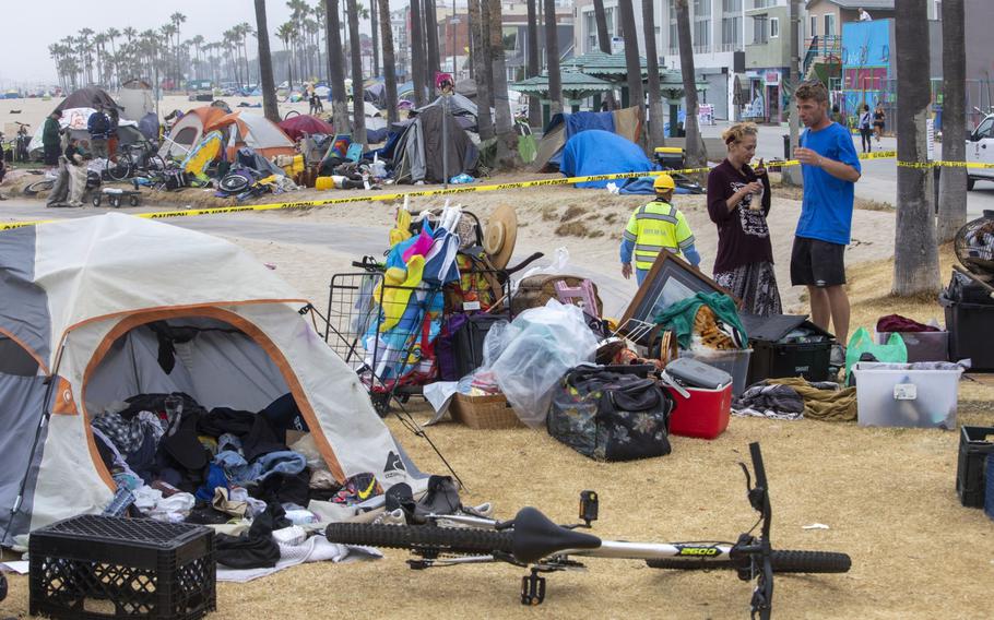
<instances>
[{"instance_id":1,"label":"woman in maroon long-sleeved top and patterned skirt, holding a drink","mask_svg":"<svg viewBox=\"0 0 994 620\"><path fill-rule=\"evenodd\" d=\"M729 156L708 175L708 214L718 225L714 282L743 301L743 311L780 314L780 291L773 273L773 249L766 225L770 181L761 162L754 170L756 126L733 124L722 134Z\"/></svg>"}]
</instances>

